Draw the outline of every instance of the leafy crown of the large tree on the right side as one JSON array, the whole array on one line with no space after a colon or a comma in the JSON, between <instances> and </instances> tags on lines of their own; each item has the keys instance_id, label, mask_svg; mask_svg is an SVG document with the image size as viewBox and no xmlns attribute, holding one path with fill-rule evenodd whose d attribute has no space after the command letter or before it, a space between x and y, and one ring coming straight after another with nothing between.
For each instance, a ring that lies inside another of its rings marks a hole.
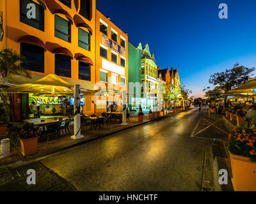
<instances>
[{"instance_id":1,"label":"leafy crown of the large tree on the right side","mask_svg":"<svg viewBox=\"0 0 256 204\"><path fill-rule=\"evenodd\" d=\"M216 89L220 89L225 94L226 100L228 91L248 82L249 77L253 76L253 71L255 68L246 68L236 63L232 69L212 74L209 83L216 86Z\"/></svg>"}]
</instances>

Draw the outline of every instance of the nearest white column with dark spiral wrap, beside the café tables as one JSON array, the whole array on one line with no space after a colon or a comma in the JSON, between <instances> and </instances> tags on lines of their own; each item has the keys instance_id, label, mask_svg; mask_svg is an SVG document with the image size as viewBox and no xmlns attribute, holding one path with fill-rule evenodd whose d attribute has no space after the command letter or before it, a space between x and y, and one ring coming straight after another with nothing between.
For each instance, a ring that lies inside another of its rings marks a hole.
<instances>
[{"instance_id":1,"label":"nearest white column with dark spiral wrap, beside the caf\u00e9 tables","mask_svg":"<svg viewBox=\"0 0 256 204\"><path fill-rule=\"evenodd\" d=\"M72 139L78 140L83 138L81 135L81 106L80 106L80 85L74 86L74 135Z\"/></svg>"}]
</instances>

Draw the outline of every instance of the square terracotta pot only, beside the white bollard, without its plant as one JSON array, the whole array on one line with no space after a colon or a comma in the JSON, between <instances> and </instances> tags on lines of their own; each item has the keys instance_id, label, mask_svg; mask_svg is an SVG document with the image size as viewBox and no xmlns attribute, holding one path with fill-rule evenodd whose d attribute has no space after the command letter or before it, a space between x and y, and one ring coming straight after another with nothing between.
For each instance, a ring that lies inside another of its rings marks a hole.
<instances>
[{"instance_id":1,"label":"square terracotta pot only, beside the white bollard, without its plant","mask_svg":"<svg viewBox=\"0 0 256 204\"><path fill-rule=\"evenodd\" d=\"M20 140L21 154L22 156L29 156L37 152L38 136L35 138L29 138Z\"/></svg>"}]
</instances>

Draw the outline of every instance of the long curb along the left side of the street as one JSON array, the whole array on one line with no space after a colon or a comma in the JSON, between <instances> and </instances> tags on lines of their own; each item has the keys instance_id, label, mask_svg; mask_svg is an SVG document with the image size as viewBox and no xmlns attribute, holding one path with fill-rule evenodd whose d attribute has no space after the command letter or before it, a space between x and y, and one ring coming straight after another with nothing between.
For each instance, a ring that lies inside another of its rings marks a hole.
<instances>
[{"instance_id":1,"label":"long curb along the left side of the street","mask_svg":"<svg viewBox=\"0 0 256 204\"><path fill-rule=\"evenodd\" d=\"M191 108L191 109L192 109L192 108ZM191 110L191 109L189 109L189 110ZM180 112L186 112L186 111L188 111L188 110L182 110L182 111L180 111ZM175 113L180 113L180 112L175 112ZM155 120L161 120L161 119L164 119L164 118L166 118L166 117L170 117L170 116L172 116L172 115L175 114L175 113L169 113L169 114L164 115L164 116L161 116L161 117L157 117L157 118L154 118L154 119L151 119L151 120L147 120L147 121L145 121L145 122L141 122L141 123L135 124L134 126L129 126L129 127L126 127L126 128L117 129L116 131L113 131L113 132L111 132L111 133L105 133L105 134L103 134L103 135L96 136L95 138L91 138L91 139L89 139L89 140L84 140L84 141L78 142L78 143L76 143L76 144L69 145L69 146L67 146L67 147L63 147L63 148L58 149L58 150L53 150L52 152L43 154L43 155L41 155L41 156L37 156L37 157L35 157L35 158L28 159L28 160L26 160L26 161L21 161L21 160L19 160L19 161L14 161L13 163L12 163L12 162L11 162L11 163L6 163L6 164L1 165L1 166L0 166L0 169L1 169L1 168L17 168L17 167L23 166L23 165L25 165L25 164L33 163L33 162L35 162L35 161L40 161L40 160L45 159L46 157L49 157L49 156L51 156L51 155L58 154L59 152L62 152L62 151L64 151L64 150L72 149L72 148L74 148L74 147L78 147L78 146L80 146L80 145L84 145L84 144L86 144L86 143L90 143L90 142L93 142L93 141L95 141L95 140L99 140L100 138L104 138L104 137L107 137L107 136L110 136L110 135L114 135L114 134L116 134L116 133L120 133L120 132L125 131L125 130L127 130L127 129L136 128L136 127L141 126L141 125L143 125L143 124L147 124L147 123L149 123L149 122L154 122Z\"/></svg>"}]
</instances>

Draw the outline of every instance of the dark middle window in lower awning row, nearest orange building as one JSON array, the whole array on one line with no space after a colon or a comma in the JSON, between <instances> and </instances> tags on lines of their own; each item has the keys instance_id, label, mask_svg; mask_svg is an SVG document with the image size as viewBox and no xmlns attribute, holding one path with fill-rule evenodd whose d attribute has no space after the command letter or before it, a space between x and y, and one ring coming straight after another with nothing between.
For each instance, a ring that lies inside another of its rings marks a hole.
<instances>
[{"instance_id":1,"label":"dark middle window in lower awning row, nearest orange building","mask_svg":"<svg viewBox=\"0 0 256 204\"><path fill-rule=\"evenodd\" d=\"M67 55L55 54L55 74L71 77L71 58Z\"/></svg>"}]
</instances>

